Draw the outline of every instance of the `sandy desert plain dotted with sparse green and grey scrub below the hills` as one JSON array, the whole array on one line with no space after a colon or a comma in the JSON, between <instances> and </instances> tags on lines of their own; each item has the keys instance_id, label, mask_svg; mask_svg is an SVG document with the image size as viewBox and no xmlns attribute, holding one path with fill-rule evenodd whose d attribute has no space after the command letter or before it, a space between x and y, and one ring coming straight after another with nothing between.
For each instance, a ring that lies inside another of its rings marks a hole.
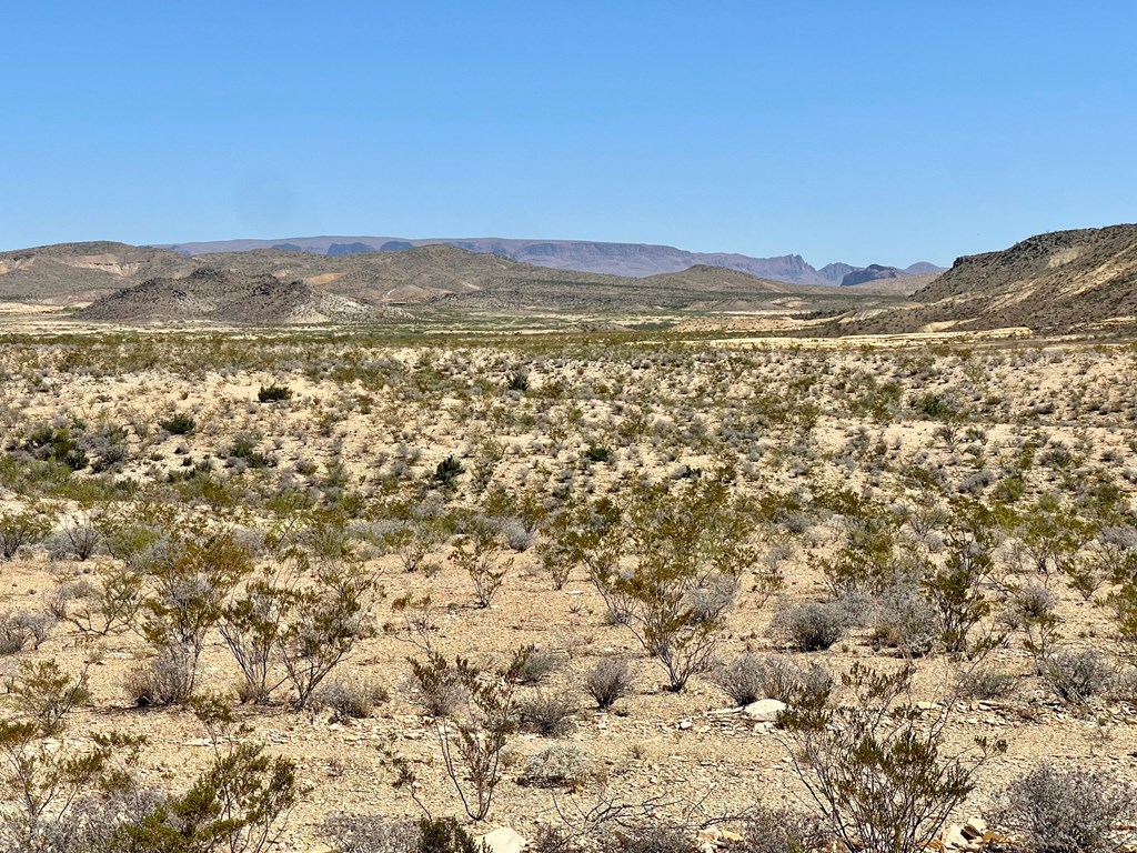
<instances>
[{"instance_id":1,"label":"sandy desert plain dotted with sparse green and grey scrub below the hills","mask_svg":"<svg viewBox=\"0 0 1137 853\"><path fill-rule=\"evenodd\" d=\"M984 806L972 759L996 744L976 735L1029 726L1045 763L1077 731L1093 772L1132 751L1126 347L396 325L6 338L0 724L38 727L11 742L38 761L63 724L59 757L99 765L35 830L76 839L45 853L99 850L124 821L166 833L180 810L210 826L185 797L218 780L190 713L217 695L268 743L225 767L264 782L262 759L297 762L282 851L316 837L316 803L372 808L356 794L375 785L372 738L432 821L517 823L537 845L524 815L559 805L548 853L623 844L598 814L686 848L721 817L692 803L729 810L755 853L905 847L943 831L946 803ZM273 386L296 392L258 403ZM913 674L870 701L854 664ZM32 702L30 679L59 678L74 702ZM744 712L758 699L789 715ZM153 743L100 753L92 735L134 718ZM752 809L802 784L774 739L844 793ZM730 784L702 801L712 770ZM873 801L878 784L912 808ZM417 853L417 827L385 818L324 836Z\"/></svg>"}]
</instances>

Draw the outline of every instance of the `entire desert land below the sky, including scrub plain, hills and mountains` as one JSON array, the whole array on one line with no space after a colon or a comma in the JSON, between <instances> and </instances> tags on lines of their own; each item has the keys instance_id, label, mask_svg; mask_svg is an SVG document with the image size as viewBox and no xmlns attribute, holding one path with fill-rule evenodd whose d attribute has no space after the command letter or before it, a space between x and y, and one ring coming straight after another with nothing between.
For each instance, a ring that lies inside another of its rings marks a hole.
<instances>
[{"instance_id":1,"label":"entire desert land below the sky, including scrub plain, hills and mountains","mask_svg":"<svg viewBox=\"0 0 1137 853\"><path fill-rule=\"evenodd\" d=\"M1137 850L1137 225L382 240L0 252L11 850Z\"/></svg>"}]
</instances>

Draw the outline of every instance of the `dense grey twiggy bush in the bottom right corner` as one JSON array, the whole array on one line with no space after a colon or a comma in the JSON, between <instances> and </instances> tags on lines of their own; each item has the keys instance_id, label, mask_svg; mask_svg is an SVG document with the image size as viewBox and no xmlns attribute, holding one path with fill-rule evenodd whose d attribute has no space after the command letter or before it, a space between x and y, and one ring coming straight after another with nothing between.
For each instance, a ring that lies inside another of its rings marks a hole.
<instances>
[{"instance_id":1,"label":"dense grey twiggy bush in the bottom right corner","mask_svg":"<svg viewBox=\"0 0 1137 853\"><path fill-rule=\"evenodd\" d=\"M1105 772L1044 764L1007 786L988 814L1023 853L1113 853L1137 821L1137 789Z\"/></svg>"}]
</instances>

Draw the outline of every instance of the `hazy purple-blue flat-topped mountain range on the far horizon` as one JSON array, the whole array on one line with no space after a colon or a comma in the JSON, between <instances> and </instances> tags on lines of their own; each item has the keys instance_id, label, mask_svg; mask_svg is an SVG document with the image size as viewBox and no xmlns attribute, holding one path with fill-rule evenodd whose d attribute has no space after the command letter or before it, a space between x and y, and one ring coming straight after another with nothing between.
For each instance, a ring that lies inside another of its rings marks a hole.
<instances>
[{"instance_id":1,"label":"hazy purple-blue flat-topped mountain range on the far horizon","mask_svg":"<svg viewBox=\"0 0 1137 853\"><path fill-rule=\"evenodd\" d=\"M861 284L877 279L897 279L943 272L945 267L927 262L898 268L873 264L869 267L850 264L827 264L813 267L800 255L755 258L735 252L686 251L672 246L649 243L606 243L588 240L505 240L498 238L408 240L397 237L290 237L280 240L218 240L213 242L168 243L160 248L181 255L283 249L327 257L365 252L406 251L421 246L453 246L478 255L497 255L522 264L553 270L572 270L623 278L646 278L678 273L692 266L716 266L738 270L761 279L794 284ZM855 280L846 281L849 275Z\"/></svg>"}]
</instances>

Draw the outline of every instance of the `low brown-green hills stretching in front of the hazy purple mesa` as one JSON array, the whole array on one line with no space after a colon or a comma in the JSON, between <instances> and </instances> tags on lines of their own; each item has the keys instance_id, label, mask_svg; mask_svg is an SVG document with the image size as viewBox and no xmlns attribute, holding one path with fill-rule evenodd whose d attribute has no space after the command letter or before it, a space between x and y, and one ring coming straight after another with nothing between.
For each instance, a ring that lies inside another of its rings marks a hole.
<instances>
[{"instance_id":1,"label":"low brown-green hills stretching in front of the hazy purple mesa","mask_svg":"<svg viewBox=\"0 0 1137 853\"><path fill-rule=\"evenodd\" d=\"M626 278L442 245L334 255L294 249L180 255L90 242L0 252L0 300L86 306L77 317L132 324L308 324L498 312L835 315L894 304L930 278L835 288L707 265Z\"/></svg>"}]
</instances>

